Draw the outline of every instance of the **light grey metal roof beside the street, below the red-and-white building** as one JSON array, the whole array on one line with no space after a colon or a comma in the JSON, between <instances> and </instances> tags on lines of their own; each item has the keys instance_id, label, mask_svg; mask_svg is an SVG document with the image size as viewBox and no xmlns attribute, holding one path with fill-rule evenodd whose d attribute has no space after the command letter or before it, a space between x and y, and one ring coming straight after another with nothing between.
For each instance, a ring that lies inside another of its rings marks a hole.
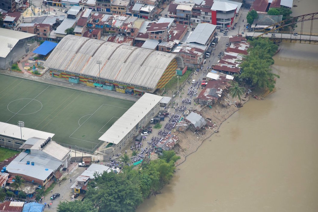
<instances>
[{"instance_id":1,"label":"light grey metal roof beside the street, below the red-and-white building","mask_svg":"<svg viewBox=\"0 0 318 212\"><path fill-rule=\"evenodd\" d=\"M199 23L189 36L187 43L200 43L206 45L215 28L216 25L211 23Z\"/></svg>"}]
</instances>

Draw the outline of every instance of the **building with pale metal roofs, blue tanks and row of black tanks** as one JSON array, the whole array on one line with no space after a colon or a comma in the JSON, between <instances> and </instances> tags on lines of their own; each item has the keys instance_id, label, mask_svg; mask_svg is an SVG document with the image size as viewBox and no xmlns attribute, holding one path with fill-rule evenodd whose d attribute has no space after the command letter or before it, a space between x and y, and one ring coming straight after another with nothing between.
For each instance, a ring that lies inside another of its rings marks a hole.
<instances>
[{"instance_id":1,"label":"building with pale metal roofs, blue tanks and row of black tanks","mask_svg":"<svg viewBox=\"0 0 318 212\"><path fill-rule=\"evenodd\" d=\"M61 177L59 171L70 164L71 150L51 138L29 138L20 146L23 150L7 166L11 175L20 175L26 182L47 187Z\"/></svg>"}]
</instances>

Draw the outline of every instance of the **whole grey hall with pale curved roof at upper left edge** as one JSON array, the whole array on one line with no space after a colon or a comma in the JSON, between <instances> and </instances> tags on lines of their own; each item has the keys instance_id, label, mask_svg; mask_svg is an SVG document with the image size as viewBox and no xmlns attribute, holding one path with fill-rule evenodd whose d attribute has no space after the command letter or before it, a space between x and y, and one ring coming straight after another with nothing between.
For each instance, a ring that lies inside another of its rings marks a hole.
<instances>
[{"instance_id":1,"label":"whole grey hall with pale curved roof at upper left edge","mask_svg":"<svg viewBox=\"0 0 318 212\"><path fill-rule=\"evenodd\" d=\"M0 28L0 69L7 69L9 64L17 62L36 46L36 35ZM8 47L11 44L11 50ZM11 62L10 62L11 61Z\"/></svg>"}]
</instances>

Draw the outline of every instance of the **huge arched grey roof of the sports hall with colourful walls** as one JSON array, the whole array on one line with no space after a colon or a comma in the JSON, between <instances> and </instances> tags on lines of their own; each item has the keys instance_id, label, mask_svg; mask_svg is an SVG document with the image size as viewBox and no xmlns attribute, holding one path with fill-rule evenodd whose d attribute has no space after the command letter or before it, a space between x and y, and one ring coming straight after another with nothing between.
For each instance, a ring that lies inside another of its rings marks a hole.
<instances>
[{"instance_id":1,"label":"huge arched grey roof of the sports hall with colourful walls","mask_svg":"<svg viewBox=\"0 0 318 212\"><path fill-rule=\"evenodd\" d=\"M100 75L105 81L153 90L174 58L183 68L179 55L67 35L52 51L44 66L92 78ZM100 72L97 60L102 62Z\"/></svg>"}]
</instances>

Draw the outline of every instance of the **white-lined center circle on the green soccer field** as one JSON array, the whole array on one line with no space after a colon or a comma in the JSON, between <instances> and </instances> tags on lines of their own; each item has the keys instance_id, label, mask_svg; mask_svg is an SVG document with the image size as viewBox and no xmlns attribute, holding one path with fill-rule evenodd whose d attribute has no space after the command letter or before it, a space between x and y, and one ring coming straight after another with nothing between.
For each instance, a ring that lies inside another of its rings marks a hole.
<instances>
[{"instance_id":1,"label":"white-lined center circle on the green soccer field","mask_svg":"<svg viewBox=\"0 0 318 212\"><path fill-rule=\"evenodd\" d=\"M31 101L25 101L25 100L31 100ZM31 105L30 103L33 102ZM21 105L24 106L21 108ZM17 114L17 115L31 115L34 113L37 113L38 111L40 111L43 108L43 105L40 101L36 100L36 99L30 99L30 98L22 98L22 99L16 99L11 101L8 106L7 106L8 110L11 113ZM11 108L11 109L10 109ZM20 111L22 109L29 109L29 113L21 113ZM16 110L16 112L14 112Z\"/></svg>"}]
</instances>

